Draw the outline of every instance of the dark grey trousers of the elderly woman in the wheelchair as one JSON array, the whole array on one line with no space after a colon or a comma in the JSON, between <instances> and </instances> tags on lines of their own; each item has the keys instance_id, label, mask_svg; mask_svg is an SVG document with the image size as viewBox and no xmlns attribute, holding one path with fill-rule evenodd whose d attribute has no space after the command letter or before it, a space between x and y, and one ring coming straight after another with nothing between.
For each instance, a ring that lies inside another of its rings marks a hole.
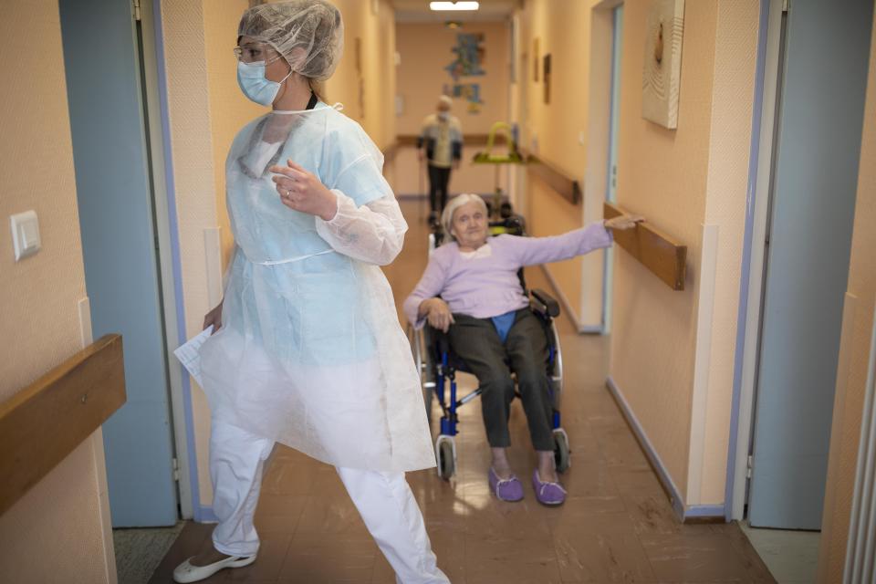
<instances>
[{"instance_id":1,"label":"dark grey trousers of the elderly woman in the wheelchair","mask_svg":"<svg viewBox=\"0 0 876 584\"><path fill-rule=\"evenodd\" d=\"M504 344L490 318L454 314L454 320L450 342L484 390L481 406L490 446L504 448L511 444L508 415L514 399L511 379L511 371L514 371L532 445L536 450L552 451L553 407L545 369L547 337L538 318L529 308L517 310Z\"/></svg>"}]
</instances>

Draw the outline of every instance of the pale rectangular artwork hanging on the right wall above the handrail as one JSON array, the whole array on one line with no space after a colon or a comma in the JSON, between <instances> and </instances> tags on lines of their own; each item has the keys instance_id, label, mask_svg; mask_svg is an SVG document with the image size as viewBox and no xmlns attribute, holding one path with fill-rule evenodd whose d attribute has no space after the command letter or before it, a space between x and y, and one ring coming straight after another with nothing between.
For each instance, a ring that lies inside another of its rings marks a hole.
<instances>
[{"instance_id":1,"label":"pale rectangular artwork hanging on the right wall above the handrail","mask_svg":"<svg viewBox=\"0 0 876 584\"><path fill-rule=\"evenodd\" d=\"M641 117L674 130L682 72L684 0L652 0L641 73Z\"/></svg>"}]
</instances>

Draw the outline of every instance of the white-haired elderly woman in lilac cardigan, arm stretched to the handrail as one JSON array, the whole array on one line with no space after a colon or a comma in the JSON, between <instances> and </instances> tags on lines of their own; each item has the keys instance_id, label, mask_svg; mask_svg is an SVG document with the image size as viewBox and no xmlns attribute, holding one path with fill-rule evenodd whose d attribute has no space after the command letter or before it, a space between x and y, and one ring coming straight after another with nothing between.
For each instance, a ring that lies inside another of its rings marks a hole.
<instances>
[{"instance_id":1,"label":"white-haired elderly woman in lilac cardigan, arm stretched to the handrail","mask_svg":"<svg viewBox=\"0 0 876 584\"><path fill-rule=\"evenodd\" d=\"M523 485L513 473L506 452L511 444L508 416L515 397L512 372L537 452L537 468L532 474L537 500L545 505L559 505L566 498L555 460L555 435L562 430L558 428L555 391L546 370L556 350L550 344L549 317L556 316L558 309L555 301L538 295L543 303L555 305L544 310L551 313L547 315L546 328L545 320L530 308L518 271L523 266L555 262L608 247L612 242L611 230L630 229L638 221L641 219L621 215L564 235L489 237L488 215L481 197L462 194L444 208L441 223L444 233L453 241L434 250L420 282L405 299L404 311L414 328L422 328L428 322L435 332L443 332L449 349L464 362L464 370L477 378L493 457L487 480L491 491L501 500L519 501L524 496ZM453 366L444 360L439 368ZM443 388L439 394L443 405L441 396ZM465 401L456 402L455 395L451 397L452 406ZM453 436L455 409L450 420L446 420L446 413L445 408L442 434ZM442 456L451 454L438 450L441 472Z\"/></svg>"}]
</instances>

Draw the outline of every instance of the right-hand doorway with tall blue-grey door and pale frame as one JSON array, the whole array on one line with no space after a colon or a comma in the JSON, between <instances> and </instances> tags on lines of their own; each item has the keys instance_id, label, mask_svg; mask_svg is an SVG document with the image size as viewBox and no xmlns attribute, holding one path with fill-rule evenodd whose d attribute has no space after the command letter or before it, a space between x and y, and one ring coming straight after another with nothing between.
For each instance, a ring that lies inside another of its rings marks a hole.
<instances>
[{"instance_id":1,"label":"right-hand doorway with tall blue-grey door and pale frame","mask_svg":"<svg viewBox=\"0 0 876 584\"><path fill-rule=\"evenodd\" d=\"M774 548L802 541L809 557L788 567L808 560L814 577L873 6L764 5L763 115L731 513L754 528L748 533L756 547L758 538Z\"/></svg>"}]
</instances>

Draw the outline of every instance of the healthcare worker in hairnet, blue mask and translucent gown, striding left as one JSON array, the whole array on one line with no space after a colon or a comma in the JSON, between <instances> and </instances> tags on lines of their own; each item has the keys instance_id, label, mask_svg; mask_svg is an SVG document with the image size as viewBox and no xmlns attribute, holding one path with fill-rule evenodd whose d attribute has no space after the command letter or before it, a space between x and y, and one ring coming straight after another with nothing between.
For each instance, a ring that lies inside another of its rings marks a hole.
<instances>
[{"instance_id":1,"label":"healthcare worker in hairnet, blue mask and translucent gown, striding left","mask_svg":"<svg viewBox=\"0 0 876 584\"><path fill-rule=\"evenodd\" d=\"M399 582L449 582L404 479L435 458L378 267L401 251L407 224L381 152L314 92L338 65L339 10L325 0L255 5L238 35L240 88L273 110L237 134L226 160L235 256L199 353L219 524L214 549L173 578L255 561L253 515L279 442L337 467Z\"/></svg>"}]
</instances>

